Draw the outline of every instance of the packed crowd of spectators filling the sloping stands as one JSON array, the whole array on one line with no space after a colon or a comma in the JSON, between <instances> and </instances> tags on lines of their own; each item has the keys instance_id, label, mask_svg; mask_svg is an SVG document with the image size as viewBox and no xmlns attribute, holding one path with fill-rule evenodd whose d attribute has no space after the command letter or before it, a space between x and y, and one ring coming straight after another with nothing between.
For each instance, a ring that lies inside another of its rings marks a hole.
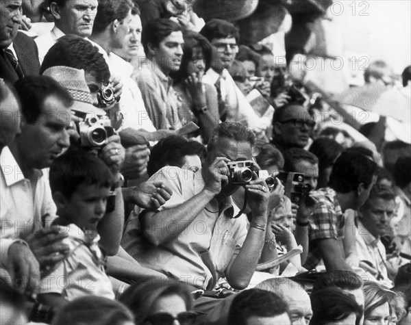
<instances>
[{"instance_id":1,"label":"packed crowd of spectators filling the sloping stands","mask_svg":"<svg viewBox=\"0 0 411 325\"><path fill-rule=\"evenodd\" d=\"M0 2L0 324L410 324L411 145L156 2Z\"/></svg>"}]
</instances>

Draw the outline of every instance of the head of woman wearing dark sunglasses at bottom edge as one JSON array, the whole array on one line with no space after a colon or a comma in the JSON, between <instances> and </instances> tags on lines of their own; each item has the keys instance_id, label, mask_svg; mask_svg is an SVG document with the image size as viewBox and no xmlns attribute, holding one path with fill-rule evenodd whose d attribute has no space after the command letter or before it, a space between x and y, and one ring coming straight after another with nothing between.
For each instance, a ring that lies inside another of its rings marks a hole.
<instances>
[{"instance_id":1,"label":"head of woman wearing dark sunglasses at bottom edge","mask_svg":"<svg viewBox=\"0 0 411 325\"><path fill-rule=\"evenodd\" d=\"M178 283L168 283L136 283L124 292L120 301L132 311L136 325L175 324L175 320L194 324L196 313L191 312L190 293Z\"/></svg>"}]
</instances>

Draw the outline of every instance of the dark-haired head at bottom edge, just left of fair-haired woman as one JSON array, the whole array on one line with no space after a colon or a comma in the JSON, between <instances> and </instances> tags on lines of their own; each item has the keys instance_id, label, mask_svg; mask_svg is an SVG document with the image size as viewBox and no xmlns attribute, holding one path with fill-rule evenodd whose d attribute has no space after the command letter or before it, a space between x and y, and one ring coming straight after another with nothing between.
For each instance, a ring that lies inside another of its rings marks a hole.
<instances>
[{"instance_id":1,"label":"dark-haired head at bottom edge, just left of fair-haired woman","mask_svg":"<svg viewBox=\"0 0 411 325\"><path fill-rule=\"evenodd\" d=\"M359 325L362 308L356 298L341 289L328 288L310 296L314 325Z\"/></svg>"}]
</instances>

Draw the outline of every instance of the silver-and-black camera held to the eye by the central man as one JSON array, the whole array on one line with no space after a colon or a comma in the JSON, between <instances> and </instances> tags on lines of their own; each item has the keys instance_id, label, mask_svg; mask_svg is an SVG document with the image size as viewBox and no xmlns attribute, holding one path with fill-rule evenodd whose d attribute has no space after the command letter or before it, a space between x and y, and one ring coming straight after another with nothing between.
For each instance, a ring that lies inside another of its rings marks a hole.
<instances>
[{"instance_id":1,"label":"silver-and-black camera held to the eye by the central man","mask_svg":"<svg viewBox=\"0 0 411 325\"><path fill-rule=\"evenodd\" d=\"M258 170L256 164L251 160L230 161L227 163L229 170L228 181L236 185L246 185L253 179L253 172L258 174L259 179L264 179L271 190L275 186L275 179L266 170Z\"/></svg>"}]
</instances>

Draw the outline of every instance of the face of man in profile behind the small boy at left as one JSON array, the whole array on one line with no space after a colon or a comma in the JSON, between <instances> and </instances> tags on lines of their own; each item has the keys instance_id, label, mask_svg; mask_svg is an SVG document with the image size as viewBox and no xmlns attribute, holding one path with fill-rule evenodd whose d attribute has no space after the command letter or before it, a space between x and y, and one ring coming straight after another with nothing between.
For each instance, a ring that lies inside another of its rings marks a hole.
<instances>
[{"instance_id":1,"label":"face of man in profile behind the small boy at left","mask_svg":"<svg viewBox=\"0 0 411 325\"><path fill-rule=\"evenodd\" d=\"M69 147L70 108L57 96L48 96L36 122L22 122L18 151L27 166L50 167L53 160Z\"/></svg>"}]
</instances>

